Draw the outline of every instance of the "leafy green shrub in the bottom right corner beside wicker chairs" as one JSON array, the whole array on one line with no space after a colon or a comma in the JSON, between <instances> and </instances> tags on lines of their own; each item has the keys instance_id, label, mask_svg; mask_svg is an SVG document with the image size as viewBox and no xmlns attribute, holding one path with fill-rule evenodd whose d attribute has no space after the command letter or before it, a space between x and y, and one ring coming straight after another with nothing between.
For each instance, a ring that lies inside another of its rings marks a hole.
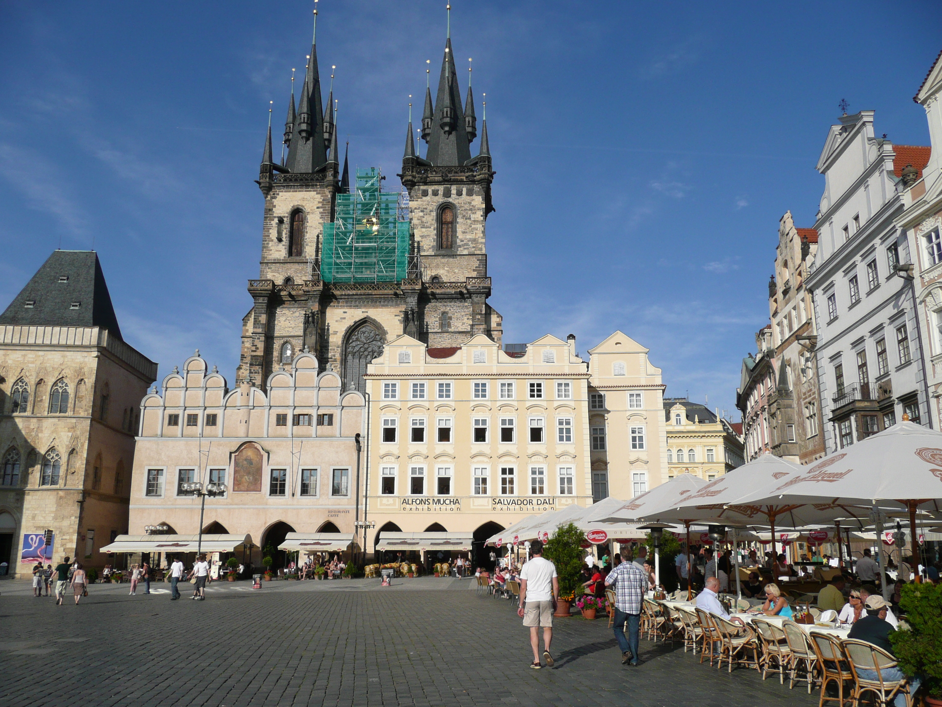
<instances>
[{"instance_id":1,"label":"leafy green shrub in the bottom right corner beside wicker chairs","mask_svg":"<svg viewBox=\"0 0 942 707\"><path fill-rule=\"evenodd\" d=\"M942 707L942 585L906 584L900 631L889 634L902 672L922 676L926 704Z\"/></svg>"}]
</instances>

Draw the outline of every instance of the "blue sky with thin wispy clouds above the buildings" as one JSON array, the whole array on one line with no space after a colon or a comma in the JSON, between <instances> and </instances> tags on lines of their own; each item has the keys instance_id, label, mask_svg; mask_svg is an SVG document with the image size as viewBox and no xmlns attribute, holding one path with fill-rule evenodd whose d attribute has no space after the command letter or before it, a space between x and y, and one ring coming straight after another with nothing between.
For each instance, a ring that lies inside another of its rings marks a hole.
<instances>
[{"instance_id":1,"label":"blue sky with thin wispy clouds above the buildings","mask_svg":"<svg viewBox=\"0 0 942 707\"><path fill-rule=\"evenodd\" d=\"M445 2L319 6L351 165L398 185L408 95L426 59L437 75ZM232 383L268 101L277 134L311 8L4 4L0 304L60 244L93 247L124 337L161 376L199 348ZM928 144L912 96L942 49L928 0L455 0L451 26L487 93L505 342L574 333L584 354L621 329L651 349L668 395L731 412L769 316L778 221L790 209L812 225L838 102Z\"/></svg>"}]
</instances>

